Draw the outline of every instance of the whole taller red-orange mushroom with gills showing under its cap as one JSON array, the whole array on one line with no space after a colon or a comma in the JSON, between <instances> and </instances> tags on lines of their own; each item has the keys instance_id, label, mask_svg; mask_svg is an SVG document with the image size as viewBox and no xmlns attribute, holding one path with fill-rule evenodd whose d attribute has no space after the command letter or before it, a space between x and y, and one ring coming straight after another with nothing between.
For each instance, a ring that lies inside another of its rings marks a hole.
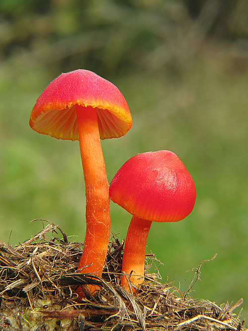
<instances>
[{"instance_id":1,"label":"whole taller red-orange mushroom with gills showing under its cap","mask_svg":"<svg viewBox=\"0 0 248 331\"><path fill-rule=\"evenodd\" d=\"M62 73L37 99L30 127L58 139L79 140L86 189L86 234L79 272L99 276L110 236L109 184L100 138L132 125L124 96L111 82L83 69Z\"/></svg>"}]
</instances>

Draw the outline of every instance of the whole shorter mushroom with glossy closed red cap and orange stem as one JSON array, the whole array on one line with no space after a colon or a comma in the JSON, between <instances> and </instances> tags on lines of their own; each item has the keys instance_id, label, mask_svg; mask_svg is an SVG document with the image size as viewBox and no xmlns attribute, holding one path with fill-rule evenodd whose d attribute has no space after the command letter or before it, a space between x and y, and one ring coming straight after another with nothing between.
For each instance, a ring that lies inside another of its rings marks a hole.
<instances>
[{"instance_id":1,"label":"whole shorter mushroom with glossy closed red cap and orange stem","mask_svg":"<svg viewBox=\"0 0 248 331\"><path fill-rule=\"evenodd\" d=\"M131 213L125 239L122 285L144 281L145 248L152 221L176 222L193 209L195 186L179 157L168 150L131 157L110 184L110 199Z\"/></svg>"}]
</instances>

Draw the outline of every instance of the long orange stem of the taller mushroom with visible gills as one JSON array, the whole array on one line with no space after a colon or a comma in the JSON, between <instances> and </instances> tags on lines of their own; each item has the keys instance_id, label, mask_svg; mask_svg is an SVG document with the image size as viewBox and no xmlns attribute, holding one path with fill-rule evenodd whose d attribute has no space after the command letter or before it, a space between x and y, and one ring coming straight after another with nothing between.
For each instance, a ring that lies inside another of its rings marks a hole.
<instances>
[{"instance_id":1,"label":"long orange stem of the taller mushroom with visible gills","mask_svg":"<svg viewBox=\"0 0 248 331\"><path fill-rule=\"evenodd\" d=\"M102 275L110 237L110 199L96 108L75 105L86 191L86 234L78 272Z\"/></svg>"}]
</instances>

